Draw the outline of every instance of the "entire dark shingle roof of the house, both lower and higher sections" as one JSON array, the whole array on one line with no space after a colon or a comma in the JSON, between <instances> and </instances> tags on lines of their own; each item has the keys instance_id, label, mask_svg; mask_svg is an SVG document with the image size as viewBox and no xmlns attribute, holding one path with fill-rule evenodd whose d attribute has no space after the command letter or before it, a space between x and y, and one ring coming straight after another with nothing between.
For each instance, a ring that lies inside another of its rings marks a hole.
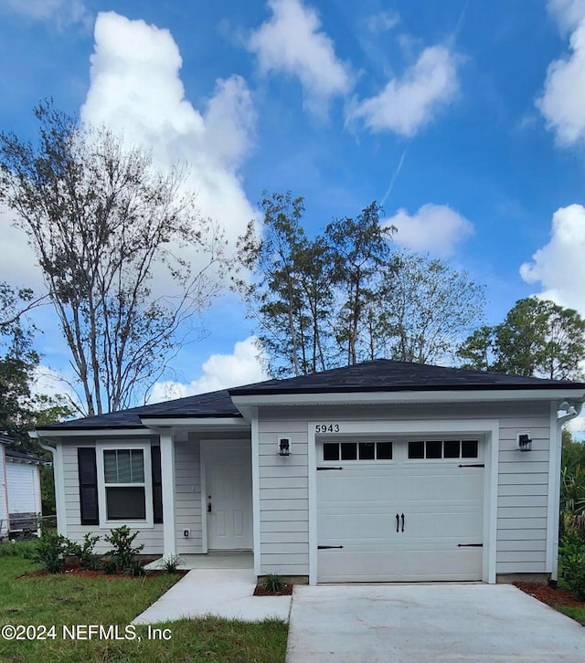
<instances>
[{"instance_id":1,"label":"entire dark shingle roof of the house, both lower and higher sections","mask_svg":"<svg viewBox=\"0 0 585 663\"><path fill-rule=\"evenodd\" d=\"M334 368L323 373L300 375L285 380L267 380L209 394L179 398L165 403L133 407L106 415L88 416L40 430L88 430L105 428L140 428L141 417L241 417L232 395L335 394L351 392L410 392L502 389L585 390L585 383L569 380L544 380L535 377L465 371L421 363L377 359L355 366Z\"/></svg>"}]
</instances>

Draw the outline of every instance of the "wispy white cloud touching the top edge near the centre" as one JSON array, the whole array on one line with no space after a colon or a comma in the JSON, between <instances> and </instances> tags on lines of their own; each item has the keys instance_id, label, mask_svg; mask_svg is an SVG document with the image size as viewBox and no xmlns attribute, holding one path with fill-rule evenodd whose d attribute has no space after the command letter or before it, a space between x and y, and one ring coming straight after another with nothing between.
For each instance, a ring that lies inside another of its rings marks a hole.
<instances>
[{"instance_id":1,"label":"wispy white cloud touching the top edge near the centre","mask_svg":"<svg viewBox=\"0 0 585 663\"><path fill-rule=\"evenodd\" d=\"M313 7L301 0L269 0L272 16L248 42L262 73L283 72L303 85L304 106L323 115L327 102L351 88L347 66L335 56L333 41L319 28Z\"/></svg>"}]
</instances>

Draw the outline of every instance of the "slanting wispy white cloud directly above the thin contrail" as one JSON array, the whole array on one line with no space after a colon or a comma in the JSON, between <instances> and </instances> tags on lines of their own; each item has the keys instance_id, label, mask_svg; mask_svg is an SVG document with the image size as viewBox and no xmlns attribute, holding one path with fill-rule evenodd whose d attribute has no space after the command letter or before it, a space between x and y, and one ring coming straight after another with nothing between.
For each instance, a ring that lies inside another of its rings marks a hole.
<instances>
[{"instance_id":1,"label":"slanting wispy white cloud directly above the thin contrail","mask_svg":"<svg viewBox=\"0 0 585 663\"><path fill-rule=\"evenodd\" d=\"M372 132L414 136L449 104L457 90L455 58L445 47L425 48L400 79L391 79L375 97L348 110L348 120L362 120Z\"/></svg>"}]
</instances>

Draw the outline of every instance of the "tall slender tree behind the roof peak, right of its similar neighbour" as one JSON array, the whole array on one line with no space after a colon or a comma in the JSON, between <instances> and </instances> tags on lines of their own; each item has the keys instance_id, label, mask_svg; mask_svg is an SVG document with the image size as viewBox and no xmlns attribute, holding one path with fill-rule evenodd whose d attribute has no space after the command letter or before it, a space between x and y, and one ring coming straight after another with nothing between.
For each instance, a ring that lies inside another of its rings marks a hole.
<instances>
[{"instance_id":1,"label":"tall slender tree behind the roof peak, right of its similar neighbour","mask_svg":"<svg viewBox=\"0 0 585 663\"><path fill-rule=\"evenodd\" d=\"M343 302L335 321L335 336L347 365L372 354L371 344L363 350L360 341L363 330L371 327L378 275L388 261L389 238L396 231L394 226L380 226L379 213L380 207L373 202L356 218L336 219L324 230L332 259L331 279Z\"/></svg>"}]
</instances>

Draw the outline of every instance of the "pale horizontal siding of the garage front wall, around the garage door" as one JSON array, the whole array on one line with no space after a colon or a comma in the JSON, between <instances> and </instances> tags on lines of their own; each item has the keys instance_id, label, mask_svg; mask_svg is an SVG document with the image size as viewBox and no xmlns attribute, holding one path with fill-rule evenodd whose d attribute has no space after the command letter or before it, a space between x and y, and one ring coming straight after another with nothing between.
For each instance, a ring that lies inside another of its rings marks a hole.
<instances>
[{"instance_id":1,"label":"pale horizontal siding of the garage front wall, around the garage door","mask_svg":"<svg viewBox=\"0 0 585 663\"><path fill-rule=\"evenodd\" d=\"M550 405L543 403L262 407L259 411L261 574L308 574L308 422L490 419L499 421L496 574L548 573ZM416 426L413 426L416 428ZM520 452L516 434L530 432ZM292 455L277 455L290 437Z\"/></svg>"}]
</instances>

